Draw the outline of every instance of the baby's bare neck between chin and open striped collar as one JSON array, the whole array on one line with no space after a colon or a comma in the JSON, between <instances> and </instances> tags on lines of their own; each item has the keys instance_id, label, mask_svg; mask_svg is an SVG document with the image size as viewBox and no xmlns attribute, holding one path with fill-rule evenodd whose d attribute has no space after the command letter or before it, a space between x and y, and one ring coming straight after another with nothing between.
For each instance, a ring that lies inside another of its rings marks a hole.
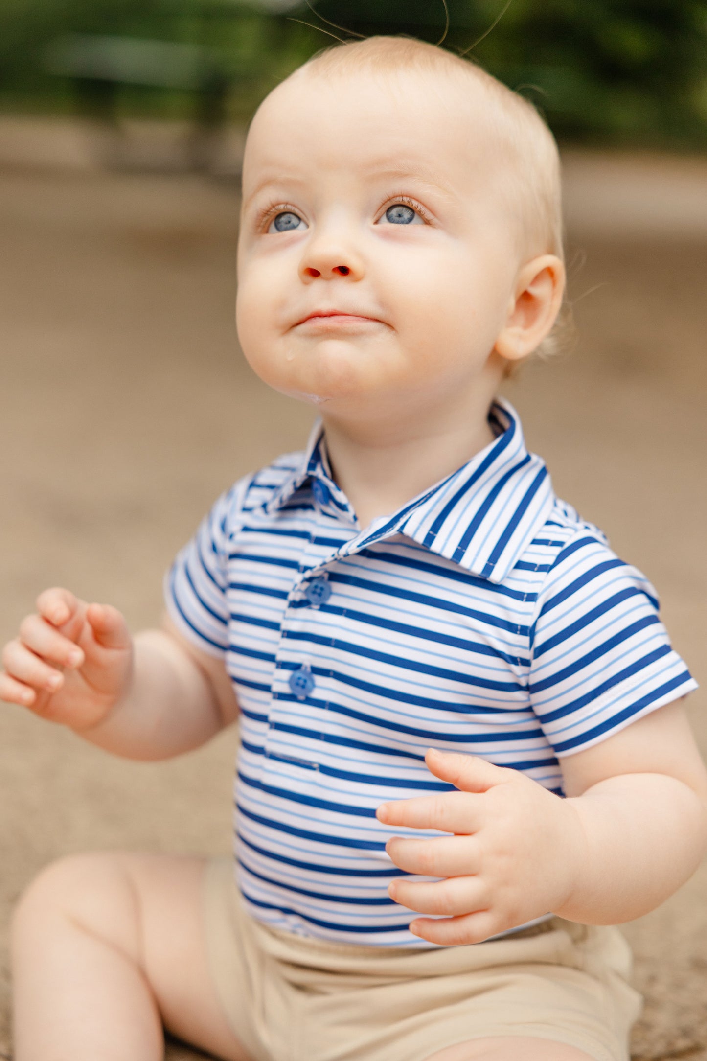
<instances>
[{"instance_id":1,"label":"baby's bare neck between chin and open striped collar","mask_svg":"<svg viewBox=\"0 0 707 1061\"><path fill-rule=\"evenodd\" d=\"M361 528L389 516L423 490L450 475L490 442L491 396L464 415L376 418L355 424L323 417L336 483L353 505Z\"/></svg>"}]
</instances>

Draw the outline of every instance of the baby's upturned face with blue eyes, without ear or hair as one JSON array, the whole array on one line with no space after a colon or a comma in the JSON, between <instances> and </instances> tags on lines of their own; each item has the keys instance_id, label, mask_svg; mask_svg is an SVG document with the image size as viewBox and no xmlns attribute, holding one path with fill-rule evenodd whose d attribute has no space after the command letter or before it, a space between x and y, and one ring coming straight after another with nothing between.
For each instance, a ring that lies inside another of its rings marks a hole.
<instances>
[{"instance_id":1,"label":"baby's upturned face with blue eyes, without ear or hair","mask_svg":"<svg viewBox=\"0 0 707 1061\"><path fill-rule=\"evenodd\" d=\"M475 106L411 73L305 73L266 100L244 163L236 313L266 383L353 417L473 394L522 264Z\"/></svg>"}]
</instances>

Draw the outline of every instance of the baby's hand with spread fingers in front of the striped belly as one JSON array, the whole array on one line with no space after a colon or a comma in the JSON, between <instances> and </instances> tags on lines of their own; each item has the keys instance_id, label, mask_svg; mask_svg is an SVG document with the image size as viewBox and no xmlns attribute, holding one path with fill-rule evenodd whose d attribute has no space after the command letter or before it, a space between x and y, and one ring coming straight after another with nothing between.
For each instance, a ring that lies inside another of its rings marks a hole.
<instances>
[{"instance_id":1,"label":"baby's hand with spread fingers in front of the striped belly","mask_svg":"<svg viewBox=\"0 0 707 1061\"><path fill-rule=\"evenodd\" d=\"M453 836L393 837L386 845L407 873L434 884L393 881L396 903L420 914L410 932L432 943L478 943L558 911L575 890L586 842L572 801L517 770L475 755L430 750L427 767L460 792L383 803L387 825L439 829Z\"/></svg>"}]
</instances>

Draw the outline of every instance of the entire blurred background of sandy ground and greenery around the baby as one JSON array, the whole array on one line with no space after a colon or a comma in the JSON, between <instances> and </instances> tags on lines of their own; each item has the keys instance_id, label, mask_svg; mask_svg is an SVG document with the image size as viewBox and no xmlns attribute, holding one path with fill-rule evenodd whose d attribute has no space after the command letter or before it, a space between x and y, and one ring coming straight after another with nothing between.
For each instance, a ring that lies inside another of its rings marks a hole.
<instances>
[{"instance_id":1,"label":"entire blurred background of sandy ground and greenery around the baby","mask_svg":"<svg viewBox=\"0 0 707 1061\"><path fill-rule=\"evenodd\" d=\"M161 574L214 498L306 438L311 411L268 392L235 337L247 122L330 33L437 41L445 24L442 0L313 4L0 3L0 643L50 585L156 623ZM527 94L563 155L577 338L508 396L558 492L651 577L704 685L707 2L448 8L445 47ZM689 711L707 750L705 700ZM0 708L0 1057L21 888L71 851L228 850L235 741L126 763ZM707 1061L706 885L703 866L626 926L635 1059Z\"/></svg>"}]
</instances>

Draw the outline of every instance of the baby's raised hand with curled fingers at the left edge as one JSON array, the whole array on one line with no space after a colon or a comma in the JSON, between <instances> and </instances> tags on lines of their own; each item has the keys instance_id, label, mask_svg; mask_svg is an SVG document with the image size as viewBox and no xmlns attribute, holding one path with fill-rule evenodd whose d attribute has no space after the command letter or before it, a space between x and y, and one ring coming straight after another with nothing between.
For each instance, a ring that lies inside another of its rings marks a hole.
<instances>
[{"instance_id":1,"label":"baby's raised hand with curled fingers at the left edge","mask_svg":"<svg viewBox=\"0 0 707 1061\"><path fill-rule=\"evenodd\" d=\"M1 700L85 730L103 721L127 691L132 640L116 608L52 589L5 645L2 662Z\"/></svg>"}]
</instances>

